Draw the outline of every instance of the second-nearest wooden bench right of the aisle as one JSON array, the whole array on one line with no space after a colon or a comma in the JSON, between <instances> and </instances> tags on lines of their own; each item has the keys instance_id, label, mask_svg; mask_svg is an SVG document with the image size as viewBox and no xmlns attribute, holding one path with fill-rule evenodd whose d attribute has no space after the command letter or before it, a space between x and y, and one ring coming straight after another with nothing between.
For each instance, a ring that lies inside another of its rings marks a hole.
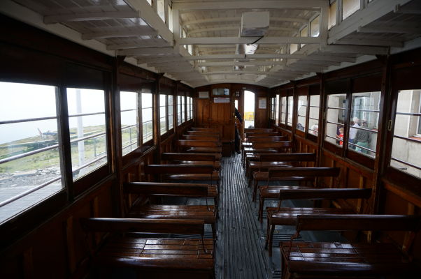
<instances>
[{"instance_id":1,"label":"second-nearest wooden bench right of the aisle","mask_svg":"<svg viewBox=\"0 0 421 279\"><path fill-rule=\"evenodd\" d=\"M352 214L352 209L334 207L281 207L285 199L368 199L371 189L355 188L317 188L317 189L284 189L279 191L278 207L266 207L267 235L266 246L269 245L269 256L272 255L273 232L277 225L297 225L297 216L308 214Z\"/></svg>"}]
</instances>

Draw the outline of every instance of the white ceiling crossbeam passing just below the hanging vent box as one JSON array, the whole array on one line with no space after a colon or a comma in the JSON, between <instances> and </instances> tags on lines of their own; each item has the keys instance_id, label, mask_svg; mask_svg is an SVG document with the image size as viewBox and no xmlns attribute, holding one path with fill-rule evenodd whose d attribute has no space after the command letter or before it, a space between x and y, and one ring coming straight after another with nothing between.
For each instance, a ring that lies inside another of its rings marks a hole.
<instances>
[{"instance_id":1,"label":"white ceiling crossbeam passing just below the hanging vent box","mask_svg":"<svg viewBox=\"0 0 421 279\"><path fill-rule=\"evenodd\" d=\"M257 42L258 40L258 42ZM320 43L317 37L206 37L206 38L180 38L180 45L226 45L226 44L283 44L283 43Z\"/></svg>"}]
</instances>

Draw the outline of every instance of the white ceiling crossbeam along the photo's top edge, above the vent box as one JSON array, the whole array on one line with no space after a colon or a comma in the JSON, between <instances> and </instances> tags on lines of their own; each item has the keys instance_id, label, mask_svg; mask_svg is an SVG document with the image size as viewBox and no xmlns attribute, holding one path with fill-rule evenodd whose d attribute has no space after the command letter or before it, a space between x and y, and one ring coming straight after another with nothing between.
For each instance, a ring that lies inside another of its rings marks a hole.
<instances>
[{"instance_id":1,"label":"white ceiling crossbeam along the photo's top edge, above the vent box","mask_svg":"<svg viewBox=\"0 0 421 279\"><path fill-rule=\"evenodd\" d=\"M195 2L173 3L173 10L229 10L229 9L294 9L294 8L320 8L329 6L324 0L274 0L274 1L221 1L221 2Z\"/></svg>"}]
</instances>

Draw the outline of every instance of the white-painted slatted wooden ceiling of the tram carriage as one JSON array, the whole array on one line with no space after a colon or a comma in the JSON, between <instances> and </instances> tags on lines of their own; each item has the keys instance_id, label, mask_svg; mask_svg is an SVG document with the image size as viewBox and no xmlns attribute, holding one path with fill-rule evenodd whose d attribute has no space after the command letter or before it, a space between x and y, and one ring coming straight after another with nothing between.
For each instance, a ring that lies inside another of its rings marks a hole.
<instances>
[{"instance_id":1,"label":"white-painted slatted wooden ceiling of the tram carriage","mask_svg":"<svg viewBox=\"0 0 421 279\"><path fill-rule=\"evenodd\" d=\"M331 29L329 0L162 1L172 7L174 33L171 19L165 23L156 4L146 0L2 0L0 13L53 33L71 30L69 36L83 45L102 45L109 55L126 56L130 63L191 86L241 82L273 87L348 66L362 56L399 52L421 36L419 0L361 0L360 9L344 20L339 7ZM238 36L241 15L250 11L269 11L269 31L263 38ZM308 31L301 37L317 16L319 36L310 37ZM179 26L185 38L180 38ZM80 37L75 39L74 32ZM255 54L236 54L238 44L256 41ZM305 45L291 54L290 48L301 43ZM192 45L192 55L186 44Z\"/></svg>"}]
</instances>

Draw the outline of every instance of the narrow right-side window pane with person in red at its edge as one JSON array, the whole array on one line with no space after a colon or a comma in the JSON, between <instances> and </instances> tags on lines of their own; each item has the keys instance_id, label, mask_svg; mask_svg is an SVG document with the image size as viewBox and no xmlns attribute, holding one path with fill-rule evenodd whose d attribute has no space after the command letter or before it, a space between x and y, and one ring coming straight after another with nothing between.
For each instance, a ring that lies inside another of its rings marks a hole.
<instances>
[{"instance_id":1,"label":"narrow right-side window pane with person in red at its edge","mask_svg":"<svg viewBox=\"0 0 421 279\"><path fill-rule=\"evenodd\" d=\"M346 94L327 96L327 125L324 140L343 145L343 123L345 121Z\"/></svg>"}]
</instances>

